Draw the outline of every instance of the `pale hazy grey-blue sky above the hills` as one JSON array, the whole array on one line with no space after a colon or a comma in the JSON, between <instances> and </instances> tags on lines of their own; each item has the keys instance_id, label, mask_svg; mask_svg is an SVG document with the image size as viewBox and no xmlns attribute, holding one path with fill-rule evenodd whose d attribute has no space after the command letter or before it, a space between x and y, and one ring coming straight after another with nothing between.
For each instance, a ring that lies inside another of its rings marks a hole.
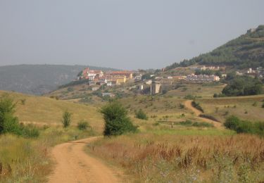
<instances>
[{"instance_id":1,"label":"pale hazy grey-blue sky above the hills","mask_svg":"<svg viewBox=\"0 0 264 183\"><path fill-rule=\"evenodd\" d=\"M163 68L264 24L263 0L0 0L0 65Z\"/></svg>"}]
</instances>

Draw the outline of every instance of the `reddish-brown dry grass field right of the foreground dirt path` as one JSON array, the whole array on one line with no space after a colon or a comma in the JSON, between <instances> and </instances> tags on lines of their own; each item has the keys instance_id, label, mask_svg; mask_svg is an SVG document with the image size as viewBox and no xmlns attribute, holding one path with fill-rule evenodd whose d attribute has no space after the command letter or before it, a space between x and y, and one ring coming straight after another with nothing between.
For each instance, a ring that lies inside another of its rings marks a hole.
<instances>
[{"instance_id":1,"label":"reddish-brown dry grass field right of the foreground dirt path","mask_svg":"<svg viewBox=\"0 0 264 183\"><path fill-rule=\"evenodd\" d=\"M124 168L135 182L261 182L263 143L246 134L147 133L101 139L89 151Z\"/></svg>"}]
</instances>

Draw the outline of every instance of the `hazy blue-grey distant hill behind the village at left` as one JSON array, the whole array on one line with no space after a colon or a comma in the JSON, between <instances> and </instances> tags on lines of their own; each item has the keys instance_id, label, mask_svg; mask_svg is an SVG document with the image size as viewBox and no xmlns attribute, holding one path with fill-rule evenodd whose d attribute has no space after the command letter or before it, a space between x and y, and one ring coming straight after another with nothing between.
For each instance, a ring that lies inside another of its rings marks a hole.
<instances>
[{"instance_id":1,"label":"hazy blue-grey distant hill behind the village at left","mask_svg":"<svg viewBox=\"0 0 264 183\"><path fill-rule=\"evenodd\" d=\"M77 78L84 68L114 70L87 65L8 65L0 67L0 90L41 95Z\"/></svg>"}]
</instances>

